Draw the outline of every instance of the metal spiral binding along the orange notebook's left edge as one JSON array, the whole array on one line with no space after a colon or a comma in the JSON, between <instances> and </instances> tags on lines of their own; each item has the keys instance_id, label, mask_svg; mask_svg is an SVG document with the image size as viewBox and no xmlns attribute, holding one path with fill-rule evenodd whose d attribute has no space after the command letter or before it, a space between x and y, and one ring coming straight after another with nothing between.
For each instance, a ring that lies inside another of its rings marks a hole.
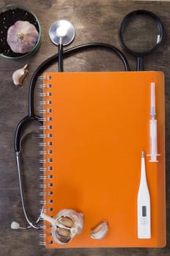
<instances>
[{"instance_id":1,"label":"metal spiral binding along the orange notebook's left edge","mask_svg":"<svg viewBox=\"0 0 170 256\"><path fill-rule=\"evenodd\" d=\"M51 77L47 76L39 76L38 80L42 80L42 82L38 85L39 89L42 89L42 92L39 92L39 113L42 115L39 120L43 122L42 126L39 127L40 133L38 135L39 138L39 163L41 167L39 167L39 188L41 192L39 192L39 204L41 208L43 206L43 212L50 215L53 214L53 142L51 138L52 134L52 109L50 105L52 105L52 92L50 89L52 85L50 83ZM50 198L51 197L51 198ZM42 222L42 230L43 233L39 234L39 244L46 246L47 244L53 244L53 238L50 233L50 227L48 223Z\"/></svg>"}]
</instances>

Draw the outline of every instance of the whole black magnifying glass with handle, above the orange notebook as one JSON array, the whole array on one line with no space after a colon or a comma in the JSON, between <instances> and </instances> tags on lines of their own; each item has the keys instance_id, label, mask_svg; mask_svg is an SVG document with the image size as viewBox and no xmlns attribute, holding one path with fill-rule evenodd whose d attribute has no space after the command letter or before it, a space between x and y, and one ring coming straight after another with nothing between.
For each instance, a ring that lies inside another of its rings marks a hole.
<instances>
[{"instance_id":1,"label":"whole black magnifying glass with handle, above the orange notebook","mask_svg":"<svg viewBox=\"0 0 170 256\"><path fill-rule=\"evenodd\" d=\"M136 58L136 70L142 71L142 59L152 53L163 39L163 24L147 10L129 12L123 18L119 38L123 48Z\"/></svg>"}]
</instances>

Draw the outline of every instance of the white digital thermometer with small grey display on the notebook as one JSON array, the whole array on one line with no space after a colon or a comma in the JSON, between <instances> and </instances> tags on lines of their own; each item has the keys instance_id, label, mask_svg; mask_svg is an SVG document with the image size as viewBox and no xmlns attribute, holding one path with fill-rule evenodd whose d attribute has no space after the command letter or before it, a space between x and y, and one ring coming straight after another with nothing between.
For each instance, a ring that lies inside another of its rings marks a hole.
<instances>
[{"instance_id":1,"label":"white digital thermometer with small grey display on the notebook","mask_svg":"<svg viewBox=\"0 0 170 256\"><path fill-rule=\"evenodd\" d=\"M142 151L141 178L137 196L137 233L138 238L151 238L150 233L150 192L147 187L147 177Z\"/></svg>"}]
</instances>

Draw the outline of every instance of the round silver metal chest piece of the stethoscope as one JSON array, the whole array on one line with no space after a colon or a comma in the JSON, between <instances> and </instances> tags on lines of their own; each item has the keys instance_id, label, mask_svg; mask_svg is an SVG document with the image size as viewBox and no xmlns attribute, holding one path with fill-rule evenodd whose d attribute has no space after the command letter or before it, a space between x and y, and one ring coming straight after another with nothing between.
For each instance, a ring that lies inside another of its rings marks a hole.
<instances>
[{"instance_id":1,"label":"round silver metal chest piece of the stethoscope","mask_svg":"<svg viewBox=\"0 0 170 256\"><path fill-rule=\"evenodd\" d=\"M57 20L50 26L49 37L55 45L69 45L75 37L74 26L67 20Z\"/></svg>"}]
</instances>

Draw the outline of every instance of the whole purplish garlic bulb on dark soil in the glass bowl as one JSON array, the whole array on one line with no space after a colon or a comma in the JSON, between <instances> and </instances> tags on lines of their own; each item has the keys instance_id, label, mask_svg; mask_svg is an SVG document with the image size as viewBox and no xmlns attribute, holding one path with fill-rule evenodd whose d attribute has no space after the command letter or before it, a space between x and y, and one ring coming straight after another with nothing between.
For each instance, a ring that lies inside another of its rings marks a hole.
<instances>
[{"instance_id":1,"label":"whole purplish garlic bulb on dark soil in the glass bowl","mask_svg":"<svg viewBox=\"0 0 170 256\"><path fill-rule=\"evenodd\" d=\"M39 37L36 27L28 21L18 20L7 31L7 43L14 53L28 53Z\"/></svg>"}]
</instances>

